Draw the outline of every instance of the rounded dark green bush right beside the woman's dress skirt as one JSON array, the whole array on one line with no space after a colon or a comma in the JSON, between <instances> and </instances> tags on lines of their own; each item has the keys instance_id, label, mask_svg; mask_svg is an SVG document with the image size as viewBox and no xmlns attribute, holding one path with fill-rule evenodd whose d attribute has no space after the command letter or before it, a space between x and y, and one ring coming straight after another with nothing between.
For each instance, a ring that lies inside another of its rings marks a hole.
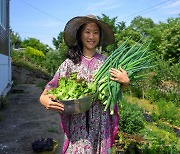
<instances>
[{"instance_id":1,"label":"rounded dark green bush right beside the woman's dress skirt","mask_svg":"<svg viewBox=\"0 0 180 154\"><path fill-rule=\"evenodd\" d=\"M119 108L120 122L119 128L121 131L134 134L144 128L143 111L137 104L130 104L123 101Z\"/></svg>"}]
</instances>

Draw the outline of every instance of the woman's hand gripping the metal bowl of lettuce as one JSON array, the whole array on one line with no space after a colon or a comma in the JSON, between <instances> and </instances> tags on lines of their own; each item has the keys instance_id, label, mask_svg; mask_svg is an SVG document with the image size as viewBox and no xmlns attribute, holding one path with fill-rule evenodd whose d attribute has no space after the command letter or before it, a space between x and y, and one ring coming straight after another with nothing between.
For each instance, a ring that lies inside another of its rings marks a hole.
<instances>
[{"instance_id":1,"label":"woman's hand gripping the metal bowl of lettuce","mask_svg":"<svg viewBox=\"0 0 180 154\"><path fill-rule=\"evenodd\" d=\"M64 105L55 99L56 97L54 95L47 94L47 89L45 89L40 96L40 102L46 109L56 110L62 113L64 111Z\"/></svg>"}]
</instances>

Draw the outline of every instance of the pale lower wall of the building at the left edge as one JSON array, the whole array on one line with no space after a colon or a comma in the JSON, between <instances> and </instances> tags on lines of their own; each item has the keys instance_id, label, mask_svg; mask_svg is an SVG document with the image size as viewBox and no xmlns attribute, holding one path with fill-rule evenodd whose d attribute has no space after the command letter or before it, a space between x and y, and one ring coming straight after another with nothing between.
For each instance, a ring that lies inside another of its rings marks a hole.
<instances>
[{"instance_id":1,"label":"pale lower wall of the building at the left edge","mask_svg":"<svg viewBox=\"0 0 180 154\"><path fill-rule=\"evenodd\" d=\"M12 82L11 57L0 54L0 96Z\"/></svg>"}]
</instances>

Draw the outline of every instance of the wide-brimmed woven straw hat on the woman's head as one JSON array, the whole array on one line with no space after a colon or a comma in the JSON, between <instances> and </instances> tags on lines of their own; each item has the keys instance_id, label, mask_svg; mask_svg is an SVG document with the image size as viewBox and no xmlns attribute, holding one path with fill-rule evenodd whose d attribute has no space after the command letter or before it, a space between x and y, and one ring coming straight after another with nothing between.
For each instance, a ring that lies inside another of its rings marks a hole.
<instances>
[{"instance_id":1,"label":"wide-brimmed woven straw hat on the woman's head","mask_svg":"<svg viewBox=\"0 0 180 154\"><path fill-rule=\"evenodd\" d=\"M94 22L101 30L100 46L107 46L114 43L114 32L107 23L100 21L94 15L77 16L69 20L64 28L64 41L68 47L76 46L76 34L81 25Z\"/></svg>"}]
</instances>

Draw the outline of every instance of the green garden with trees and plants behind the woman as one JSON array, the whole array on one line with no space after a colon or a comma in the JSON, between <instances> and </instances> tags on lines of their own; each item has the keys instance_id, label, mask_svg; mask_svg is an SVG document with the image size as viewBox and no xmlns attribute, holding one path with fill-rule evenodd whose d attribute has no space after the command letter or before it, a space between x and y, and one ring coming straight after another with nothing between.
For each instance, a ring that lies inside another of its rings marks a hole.
<instances>
[{"instance_id":1,"label":"green garden with trees and plants behind the woman","mask_svg":"<svg viewBox=\"0 0 180 154\"><path fill-rule=\"evenodd\" d=\"M142 78L131 80L118 104L120 122L113 153L180 153L180 18L155 24L138 16L129 26L123 21L116 23L117 17L110 19L102 14L98 18L108 22L115 32L115 43L104 48L103 54L109 56L127 39L129 46L149 40L149 50L155 54L151 62L154 67L141 71ZM35 38L21 40L12 31L13 65L53 76L67 51L63 32L53 38L53 44L56 49Z\"/></svg>"}]
</instances>

